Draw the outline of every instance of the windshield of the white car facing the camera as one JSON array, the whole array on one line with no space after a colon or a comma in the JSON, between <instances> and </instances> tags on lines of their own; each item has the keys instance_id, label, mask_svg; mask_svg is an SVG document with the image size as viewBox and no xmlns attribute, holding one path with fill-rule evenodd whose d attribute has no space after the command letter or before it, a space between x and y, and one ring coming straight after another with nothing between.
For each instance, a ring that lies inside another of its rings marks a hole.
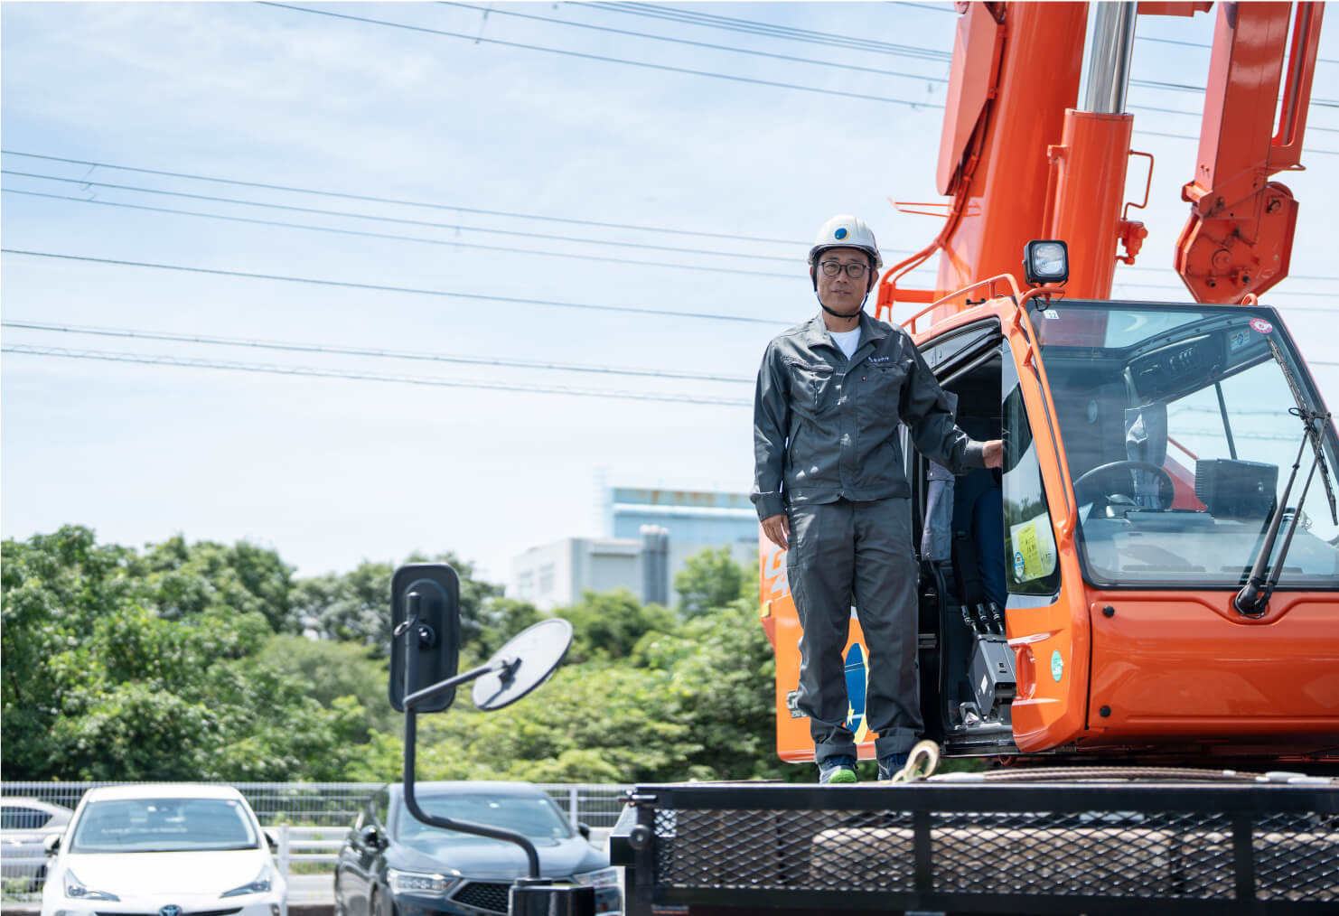
<instances>
[{"instance_id":1,"label":"windshield of the white car facing the camera","mask_svg":"<svg viewBox=\"0 0 1339 916\"><path fill-rule=\"evenodd\" d=\"M76 853L254 849L246 810L232 798L116 798L90 802L70 841Z\"/></svg>"}]
</instances>

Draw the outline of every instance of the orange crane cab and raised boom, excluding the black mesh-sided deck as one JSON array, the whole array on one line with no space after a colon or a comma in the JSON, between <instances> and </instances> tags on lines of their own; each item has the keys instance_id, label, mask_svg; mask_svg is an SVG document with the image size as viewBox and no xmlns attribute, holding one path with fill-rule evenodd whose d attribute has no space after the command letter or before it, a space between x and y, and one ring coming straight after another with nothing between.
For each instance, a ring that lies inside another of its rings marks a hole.
<instances>
[{"instance_id":1,"label":"orange crane cab and raised boom, excluding the black mesh-sided deck","mask_svg":"<svg viewBox=\"0 0 1339 916\"><path fill-rule=\"evenodd\" d=\"M1123 114L1134 4L1097 8L1083 108L1069 106L1087 4L963 5L937 173L952 202L878 295L880 317L928 304L907 327L956 395L959 425L1006 442L1000 481L944 481L905 449L925 532L928 734L949 754L1006 761L1339 762L1335 433L1283 321L1257 301L1288 272L1297 204L1268 178L1299 167L1323 4L1218 9L1182 192L1188 304L1110 297L1115 265L1146 236L1122 209L1126 163L1146 155L1130 150ZM1019 256L1035 238L1062 240L1040 250L1067 248L1069 272L1024 293ZM935 291L898 287L936 252ZM778 751L811 759L785 558L761 545ZM852 623L850 724L869 757L868 654Z\"/></svg>"}]
</instances>

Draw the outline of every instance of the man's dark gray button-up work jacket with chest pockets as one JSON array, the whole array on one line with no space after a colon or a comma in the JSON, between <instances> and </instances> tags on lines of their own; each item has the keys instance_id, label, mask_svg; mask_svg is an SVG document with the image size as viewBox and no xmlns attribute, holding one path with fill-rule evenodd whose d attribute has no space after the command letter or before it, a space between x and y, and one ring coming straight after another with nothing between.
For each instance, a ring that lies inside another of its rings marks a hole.
<instances>
[{"instance_id":1,"label":"man's dark gray button-up work jacket with chest pockets","mask_svg":"<svg viewBox=\"0 0 1339 916\"><path fill-rule=\"evenodd\" d=\"M777 335L754 394L758 518L802 502L909 497L898 421L917 451L955 474L986 466L981 443L953 423L944 390L900 327L861 312L849 360L822 313Z\"/></svg>"}]
</instances>

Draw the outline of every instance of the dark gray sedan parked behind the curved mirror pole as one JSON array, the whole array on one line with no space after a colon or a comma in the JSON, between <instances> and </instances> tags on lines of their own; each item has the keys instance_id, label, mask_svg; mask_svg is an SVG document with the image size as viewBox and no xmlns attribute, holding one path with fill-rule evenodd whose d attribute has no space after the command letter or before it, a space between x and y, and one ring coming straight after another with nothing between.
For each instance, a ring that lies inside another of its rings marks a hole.
<instances>
[{"instance_id":1,"label":"dark gray sedan parked behind the curved mirror pole","mask_svg":"<svg viewBox=\"0 0 1339 916\"><path fill-rule=\"evenodd\" d=\"M549 794L528 782L419 782L428 813L521 833L540 854L541 874L589 884L596 912L619 913L617 869L574 830ZM400 783L382 787L349 828L335 866L336 916L489 916L507 912L517 877L529 873L521 846L442 830L415 820Z\"/></svg>"}]
</instances>

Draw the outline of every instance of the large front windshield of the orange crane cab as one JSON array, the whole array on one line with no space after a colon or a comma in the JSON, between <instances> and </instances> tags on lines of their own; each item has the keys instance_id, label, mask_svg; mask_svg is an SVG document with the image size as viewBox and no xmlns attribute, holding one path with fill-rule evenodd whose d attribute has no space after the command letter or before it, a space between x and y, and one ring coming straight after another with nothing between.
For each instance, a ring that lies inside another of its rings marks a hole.
<instances>
[{"instance_id":1,"label":"large front windshield of the orange crane cab","mask_svg":"<svg viewBox=\"0 0 1339 916\"><path fill-rule=\"evenodd\" d=\"M1288 375L1307 408L1322 407L1276 315L1240 305L1056 303L1035 324L1089 580L1241 585L1303 441ZM1328 425L1323 454L1332 475ZM1312 459L1307 447L1285 524ZM1336 585L1339 525L1318 470L1279 588Z\"/></svg>"}]
</instances>

